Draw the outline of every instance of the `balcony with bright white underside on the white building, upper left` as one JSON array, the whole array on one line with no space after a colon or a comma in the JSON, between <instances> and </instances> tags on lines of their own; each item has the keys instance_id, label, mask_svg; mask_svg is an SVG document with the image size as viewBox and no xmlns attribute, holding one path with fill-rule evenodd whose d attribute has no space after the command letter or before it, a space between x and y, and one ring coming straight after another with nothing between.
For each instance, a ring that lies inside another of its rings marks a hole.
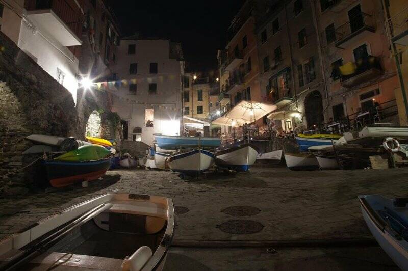
<instances>
[{"instance_id":1,"label":"balcony with bright white underside on the white building, upper left","mask_svg":"<svg viewBox=\"0 0 408 271\"><path fill-rule=\"evenodd\" d=\"M66 0L28 1L27 17L42 31L53 36L63 46L81 45L77 36L82 30L82 15L77 6ZM72 2L73 3L73 2Z\"/></svg>"}]
</instances>

